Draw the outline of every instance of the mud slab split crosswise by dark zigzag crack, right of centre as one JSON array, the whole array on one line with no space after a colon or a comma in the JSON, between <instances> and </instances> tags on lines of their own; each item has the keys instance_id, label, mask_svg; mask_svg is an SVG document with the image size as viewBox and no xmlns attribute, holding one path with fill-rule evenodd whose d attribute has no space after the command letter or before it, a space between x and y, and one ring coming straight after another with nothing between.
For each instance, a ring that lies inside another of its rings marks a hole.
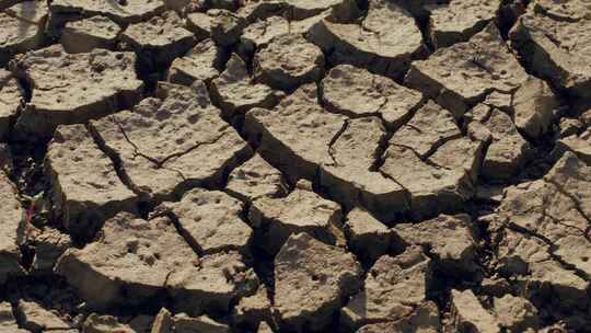
<instances>
[{"instance_id":1,"label":"mud slab split crosswise by dark zigzag crack, right of centre","mask_svg":"<svg viewBox=\"0 0 591 333\"><path fill-rule=\"evenodd\" d=\"M405 190L416 219L431 217L474 195L484 146L462 137L451 113L431 101L394 133L380 171Z\"/></svg>"}]
</instances>

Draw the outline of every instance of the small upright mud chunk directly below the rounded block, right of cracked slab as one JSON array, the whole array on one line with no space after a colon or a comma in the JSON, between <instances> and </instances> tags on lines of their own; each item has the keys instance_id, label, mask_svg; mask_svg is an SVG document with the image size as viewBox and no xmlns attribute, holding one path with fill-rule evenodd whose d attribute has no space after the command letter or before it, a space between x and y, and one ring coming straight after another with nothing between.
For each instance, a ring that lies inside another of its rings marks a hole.
<instances>
[{"instance_id":1,"label":"small upright mud chunk directly below the rounded block, right of cracked slab","mask_svg":"<svg viewBox=\"0 0 591 333\"><path fill-rule=\"evenodd\" d=\"M529 159L530 143L518 131L509 115L497 108L488 113L487 118L480 123L491 138L482 174L489 180L508 180L517 175Z\"/></svg>"}]
</instances>

